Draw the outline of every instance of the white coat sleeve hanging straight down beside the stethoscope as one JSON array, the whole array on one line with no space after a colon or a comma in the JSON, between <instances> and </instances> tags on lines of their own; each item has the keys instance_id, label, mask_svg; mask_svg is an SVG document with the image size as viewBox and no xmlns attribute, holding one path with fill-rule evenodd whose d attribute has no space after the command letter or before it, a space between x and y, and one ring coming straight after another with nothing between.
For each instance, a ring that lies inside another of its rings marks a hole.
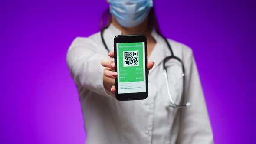
<instances>
[{"instance_id":1,"label":"white coat sleeve hanging straight down beside the stethoscope","mask_svg":"<svg viewBox=\"0 0 256 144\"><path fill-rule=\"evenodd\" d=\"M185 56L185 102L188 108L181 108L180 128L177 144L213 144L213 133L207 112L203 89L197 65L191 49Z\"/></svg>"}]
</instances>

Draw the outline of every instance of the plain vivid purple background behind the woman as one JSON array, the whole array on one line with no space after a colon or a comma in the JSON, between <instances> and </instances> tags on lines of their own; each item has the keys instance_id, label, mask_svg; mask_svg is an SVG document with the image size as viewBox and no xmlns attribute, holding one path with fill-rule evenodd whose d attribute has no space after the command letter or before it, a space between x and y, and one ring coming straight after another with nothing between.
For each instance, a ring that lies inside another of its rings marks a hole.
<instances>
[{"instance_id":1,"label":"plain vivid purple background behind the woman","mask_svg":"<svg viewBox=\"0 0 256 144\"><path fill-rule=\"evenodd\" d=\"M255 137L256 4L156 0L161 30L192 47L217 144ZM98 32L105 0L0 2L0 144L83 144L66 65L76 36Z\"/></svg>"}]
</instances>

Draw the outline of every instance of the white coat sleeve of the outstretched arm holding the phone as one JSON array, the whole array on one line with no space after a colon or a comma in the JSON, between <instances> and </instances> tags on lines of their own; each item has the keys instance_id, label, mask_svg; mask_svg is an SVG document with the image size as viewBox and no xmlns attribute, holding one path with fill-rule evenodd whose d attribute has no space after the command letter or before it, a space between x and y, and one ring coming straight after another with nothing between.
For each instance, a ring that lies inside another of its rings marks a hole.
<instances>
[{"instance_id":1,"label":"white coat sleeve of the outstretched arm holding the phone","mask_svg":"<svg viewBox=\"0 0 256 144\"><path fill-rule=\"evenodd\" d=\"M66 60L78 87L85 87L92 92L110 97L103 86L102 47L88 38L76 38L68 49Z\"/></svg>"}]
</instances>

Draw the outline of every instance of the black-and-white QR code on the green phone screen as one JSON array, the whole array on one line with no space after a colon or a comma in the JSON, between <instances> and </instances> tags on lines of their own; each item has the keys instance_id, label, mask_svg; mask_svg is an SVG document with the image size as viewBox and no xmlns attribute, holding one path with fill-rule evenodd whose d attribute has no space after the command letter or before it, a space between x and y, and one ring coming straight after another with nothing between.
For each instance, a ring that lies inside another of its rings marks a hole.
<instances>
[{"instance_id":1,"label":"black-and-white QR code on the green phone screen","mask_svg":"<svg viewBox=\"0 0 256 144\"><path fill-rule=\"evenodd\" d=\"M139 51L124 51L124 67L126 66L139 66Z\"/></svg>"}]
</instances>

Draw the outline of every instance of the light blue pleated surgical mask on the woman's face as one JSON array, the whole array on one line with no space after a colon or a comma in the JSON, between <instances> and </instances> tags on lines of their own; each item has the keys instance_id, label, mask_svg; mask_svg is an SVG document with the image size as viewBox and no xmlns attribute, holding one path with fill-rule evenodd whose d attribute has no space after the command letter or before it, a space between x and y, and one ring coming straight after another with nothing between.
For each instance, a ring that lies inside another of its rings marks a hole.
<instances>
[{"instance_id":1,"label":"light blue pleated surgical mask on the woman's face","mask_svg":"<svg viewBox=\"0 0 256 144\"><path fill-rule=\"evenodd\" d=\"M153 7L153 0L108 0L110 13L121 26L133 27L142 23Z\"/></svg>"}]
</instances>

